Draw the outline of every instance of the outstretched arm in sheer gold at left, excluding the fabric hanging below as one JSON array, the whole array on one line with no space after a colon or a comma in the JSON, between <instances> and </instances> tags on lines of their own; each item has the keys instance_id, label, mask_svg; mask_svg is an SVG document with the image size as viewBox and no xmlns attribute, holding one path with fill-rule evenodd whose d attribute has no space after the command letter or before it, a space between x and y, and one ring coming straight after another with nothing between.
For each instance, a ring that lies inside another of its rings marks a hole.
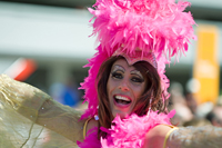
<instances>
[{"instance_id":1,"label":"outstretched arm in sheer gold at left, excluding the fabric hanging below","mask_svg":"<svg viewBox=\"0 0 222 148\"><path fill-rule=\"evenodd\" d=\"M54 101L43 91L0 76L0 102L31 121L47 127L72 141L83 140L81 112ZM31 131L31 130L30 130Z\"/></svg>"}]
</instances>

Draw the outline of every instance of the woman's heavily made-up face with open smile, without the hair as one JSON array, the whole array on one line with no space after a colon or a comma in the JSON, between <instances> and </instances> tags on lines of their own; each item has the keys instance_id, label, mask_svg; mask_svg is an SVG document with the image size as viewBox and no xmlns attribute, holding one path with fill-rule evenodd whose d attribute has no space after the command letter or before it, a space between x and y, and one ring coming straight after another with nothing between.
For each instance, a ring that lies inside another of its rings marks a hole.
<instances>
[{"instance_id":1,"label":"woman's heavily made-up face with open smile, without the hair","mask_svg":"<svg viewBox=\"0 0 222 148\"><path fill-rule=\"evenodd\" d=\"M132 112L137 99L145 89L145 79L142 73L124 59L117 60L108 79L107 91L113 117L121 118Z\"/></svg>"}]
</instances>

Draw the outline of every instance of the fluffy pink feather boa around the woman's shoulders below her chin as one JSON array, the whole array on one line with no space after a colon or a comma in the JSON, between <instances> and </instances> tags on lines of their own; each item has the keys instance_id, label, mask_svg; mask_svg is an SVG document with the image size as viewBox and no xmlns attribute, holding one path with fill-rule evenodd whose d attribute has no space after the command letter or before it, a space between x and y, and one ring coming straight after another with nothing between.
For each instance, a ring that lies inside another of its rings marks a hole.
<instances>
[{"instance_id":1,"label":"fluffy pink feather boa around the woman's shoulders below her chin","mask_svg":"<svg viewBox=\"0 0 222 148\"><path fill-rule=\"evenodd\" d=\"M113 120L115 126L111 126L111 129L101 128L101 130L108 132L105 139L101 138L99 141L98 129L94 128L88 132L83 142L78 142L78 146L80 148L141 148L144 144L145 134L158 125L171 125L170 118L174 114L174 110L168 115L158 115L157 111L151 111L149 116L131 115L123 120L118 116Z\"/></svg>"}]
</instances>

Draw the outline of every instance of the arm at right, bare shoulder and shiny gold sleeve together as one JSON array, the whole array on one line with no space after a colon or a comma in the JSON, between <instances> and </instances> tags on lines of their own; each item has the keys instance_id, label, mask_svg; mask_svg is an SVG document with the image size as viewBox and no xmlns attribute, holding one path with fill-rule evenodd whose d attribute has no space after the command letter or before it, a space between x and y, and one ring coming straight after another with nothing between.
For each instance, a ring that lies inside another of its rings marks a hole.
<instances>
[{"instance_id":1,"label":"arm at right, bare shoulder and shiny gold sleeve together","mask_svg":"<svg viewBox=\"0 0 222 148\"><path fill-rule=\"evenodd\" d=\"M172 128L159 125L151 129L143 148L163 148L165 136ZM221 148L222 128L213 126L181 127L173 130L167 139L165 148Z\"/></svg>"}]
</instances>

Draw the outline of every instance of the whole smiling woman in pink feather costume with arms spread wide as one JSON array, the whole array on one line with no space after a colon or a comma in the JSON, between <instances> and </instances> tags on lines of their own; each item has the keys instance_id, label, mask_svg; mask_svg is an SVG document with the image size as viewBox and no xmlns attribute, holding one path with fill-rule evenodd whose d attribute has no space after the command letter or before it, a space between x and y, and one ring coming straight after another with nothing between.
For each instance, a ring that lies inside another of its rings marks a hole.
<instances>
[{"instance_id":1,"label":"whole smiling woman in pink feather costume with arms spread wide","mask_svg":"<svg viewBox=\"0 0 222 148\"><path fill-rule=\"evenodd\" d=\"M167 52L184 52L195 39L189 4L98 0L89 10L100 46L81 83L88 109L82 115L2 75L1 147L221 147L221 128L178 129L167 110Z\"/></svg>"}]
</instances>

